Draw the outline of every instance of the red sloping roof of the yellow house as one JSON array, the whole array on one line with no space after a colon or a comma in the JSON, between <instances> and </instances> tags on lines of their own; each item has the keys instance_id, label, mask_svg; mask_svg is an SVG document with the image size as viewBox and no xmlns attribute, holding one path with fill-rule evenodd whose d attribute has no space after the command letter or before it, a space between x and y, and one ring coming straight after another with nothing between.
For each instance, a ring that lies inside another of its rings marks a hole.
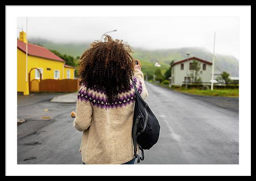
<instances>
[{"instance_id":1,"label":"red sloping roof of the yellow house","mask_svg":"<svg viewBox=\"0 0 256 181\"><path fill-rule=\"evenodd\" d=\"M17 48L26 53L26 43L23 41L17 40ZM28 55L33 55L36 57L48 58L51 60L57 60L66 63L61 57L58 57L47 48L43 46L38 46L32 43L28 43Z\"/></svg>"}]
</instances>

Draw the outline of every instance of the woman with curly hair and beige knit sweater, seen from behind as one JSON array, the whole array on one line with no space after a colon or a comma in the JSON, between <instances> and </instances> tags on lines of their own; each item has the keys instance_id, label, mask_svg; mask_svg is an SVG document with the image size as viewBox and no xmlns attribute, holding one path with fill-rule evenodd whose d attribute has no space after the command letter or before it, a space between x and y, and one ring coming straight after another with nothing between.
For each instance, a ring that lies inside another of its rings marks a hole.
<instances>
[{"instance_id":1,"label":"woman with curly hair and beige knit sweater, seen from behind","mask_svg":"<svg viewBox=\"0 0 256 181\"><path fill-rule=\"evenodd\" d=\"M105 42L93 42L80 57L81 88L74 126L83 132L80 151L84 164L134 164L131 79L143 99L148 92L140 61L136 65L131 53L127 43L105 35Z\"/></svg>"}]
</instances>

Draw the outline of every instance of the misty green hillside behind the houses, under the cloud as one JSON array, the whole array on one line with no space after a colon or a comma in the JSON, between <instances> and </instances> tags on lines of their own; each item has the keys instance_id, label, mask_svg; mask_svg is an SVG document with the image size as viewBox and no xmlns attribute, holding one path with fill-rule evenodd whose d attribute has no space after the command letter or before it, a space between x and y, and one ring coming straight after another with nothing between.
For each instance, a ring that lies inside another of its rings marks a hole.
<instances>
[{"instance_id":1,"label":"misty green hillside behind the houses, under the cloud","mask_svg":"<svg viewBox=\"0 0 256 181\"><path fill-rule=\"evenodd\" d=\"M73 57L80 56L85 49L89 47L88 42L84 43L55 43L43 39L29 39L30 42L40 44L48 49L55 49L61 54L71 55ZM143 66L143 72L153 74L154 63L158 61L161 64L161 72L164 73L169 68L172 60L178 61L186 58L186 52L190 52L190 57L195 56L207 61L212 61L212 53L203 48L188 47L178 49L159 49L148 50L134 48L134 58L139 59ZM229 72L231 76L239 76L239 61L229 55L215 56L215 72Z\"/></svg>"}]
</instances>

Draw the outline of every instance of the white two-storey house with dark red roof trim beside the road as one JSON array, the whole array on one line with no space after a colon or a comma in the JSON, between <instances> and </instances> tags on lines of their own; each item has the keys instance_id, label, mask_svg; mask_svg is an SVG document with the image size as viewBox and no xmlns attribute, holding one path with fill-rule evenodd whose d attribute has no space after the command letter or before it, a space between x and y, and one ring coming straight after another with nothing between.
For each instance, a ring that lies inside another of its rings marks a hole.
<instances>
[{"instance_id":1,"label":"white two-storey house with dark red roof trim beside the road","mask_svg":"<svg viewBox=\"0 0 256 181\"><path fill-rule=\"evenodd\" d=\"M198 63L198 71L195 70ZM196 76L196 72L198 75ZM171 84L181 86L186 81L195 82L195 77L200 78L202 83L210 83L212 75L212 63L198 57L190 57L176 61L172 64Z\"/></svg>"}]
</instances>

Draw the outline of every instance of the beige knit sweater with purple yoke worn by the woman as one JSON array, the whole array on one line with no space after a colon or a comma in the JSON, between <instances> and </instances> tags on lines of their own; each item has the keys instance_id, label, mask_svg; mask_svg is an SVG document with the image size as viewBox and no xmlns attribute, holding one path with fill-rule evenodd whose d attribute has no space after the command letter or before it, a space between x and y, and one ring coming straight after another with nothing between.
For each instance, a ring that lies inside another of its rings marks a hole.
<instances>
[{"instance_id":1,"label":"beige knit sweater with purple yoke worn by the woman","mask_svg":"<svg viewBox=\"0 0 256 181\"><path fill-rule=\"evenodd\" d=\"M133 80L145 99L148 92L140 66L135 66ZM132 81L130 90L119 90L117 101L112 103L106 102L104 90L81 86L74 126L83 132L79 151L85 164L123 164L134 158L134 96Z\"/></svg>"}]
</instances>

